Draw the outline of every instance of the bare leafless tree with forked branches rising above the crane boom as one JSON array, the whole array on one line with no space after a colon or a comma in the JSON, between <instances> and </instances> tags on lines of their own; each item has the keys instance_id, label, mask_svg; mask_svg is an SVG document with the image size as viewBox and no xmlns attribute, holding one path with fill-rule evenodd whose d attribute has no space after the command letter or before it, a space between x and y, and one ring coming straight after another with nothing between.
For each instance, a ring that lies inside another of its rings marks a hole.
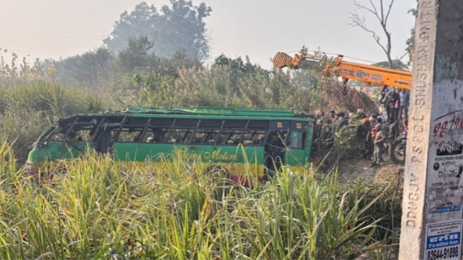
<instances>
[{"instance_id":1,"label":"bare leafless tree with forked branches rising above the crane boom","mask_svg":"<svg viewBox=\"0 0 463 260\"><path fill-rule=\"evenodd\" d=\"M364 10L367 12L370 12L373 14L373 16L379 21L379 24L381 25L382 31L384 32L384 35L386 36L386 43L381 41L381 37L370 29L370 27L366 23L366 19L363 15L360 15L357 11L350 12L350 26L352 27L360 27L364 31L369 32L371 36L375 39L376 43L381 47L381 49L384 51L388 58L388 63L389 63L389 68L394 68L394 62L392 59L392 54L391 54L391 32L388 30L388 18L389 14L391 13L392 6L394 5L394 0L390 0L389 5L385 5L383 0L379 0L379 5L373 3L373 0L368 0L369 1L369 6L361 4L357 0L353 0L353 4L357 7L359 10ZM397 60L401 60L404 56L398 58Z\"/></svg>"}]
</instances>

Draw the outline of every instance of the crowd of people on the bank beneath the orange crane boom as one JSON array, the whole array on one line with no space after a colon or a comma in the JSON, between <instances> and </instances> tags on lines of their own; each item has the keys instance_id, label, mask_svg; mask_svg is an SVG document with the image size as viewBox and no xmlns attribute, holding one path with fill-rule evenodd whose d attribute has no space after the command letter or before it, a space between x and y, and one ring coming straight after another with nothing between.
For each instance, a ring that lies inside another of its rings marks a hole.
<instances>
[{"instance_id":1,"label":"crowd of people on the bank beneath the orange crane boom","mask_svg":"<svg viewBox=\"0 0 463 260\"><path fill-rule=\"evenodd\" d=\"M315 114L315 136L321 140L332 140L343 127L355 127L356 138L365 145L365 158L371 167L379 167L385 148L401 133L406 134L410 93L407 90L381 89L382 113L367 116L362 109L357 111L317 111Z\"/></svg>"}]
</instances>

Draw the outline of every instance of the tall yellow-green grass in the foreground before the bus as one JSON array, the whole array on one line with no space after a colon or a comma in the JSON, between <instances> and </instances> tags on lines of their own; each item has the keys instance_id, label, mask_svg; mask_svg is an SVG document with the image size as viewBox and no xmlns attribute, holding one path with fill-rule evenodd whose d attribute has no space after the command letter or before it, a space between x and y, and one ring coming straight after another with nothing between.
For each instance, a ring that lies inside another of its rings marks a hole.
<instances>
[{"instance_id":1,"label":"tall yellow-green grass in the foreground before the bus","mask_svg":"<svg viewBox=\"0 0 463 260\"><path fill-rule=\"evenodd\" d=\"M381 248L377 198L336 172L284 169L252 189L201 163L114 164L85 155L36 180L0 146L1 259L353 259ZM249 173L248 173L249 174Z\"/></svg>"}]
</instances>

